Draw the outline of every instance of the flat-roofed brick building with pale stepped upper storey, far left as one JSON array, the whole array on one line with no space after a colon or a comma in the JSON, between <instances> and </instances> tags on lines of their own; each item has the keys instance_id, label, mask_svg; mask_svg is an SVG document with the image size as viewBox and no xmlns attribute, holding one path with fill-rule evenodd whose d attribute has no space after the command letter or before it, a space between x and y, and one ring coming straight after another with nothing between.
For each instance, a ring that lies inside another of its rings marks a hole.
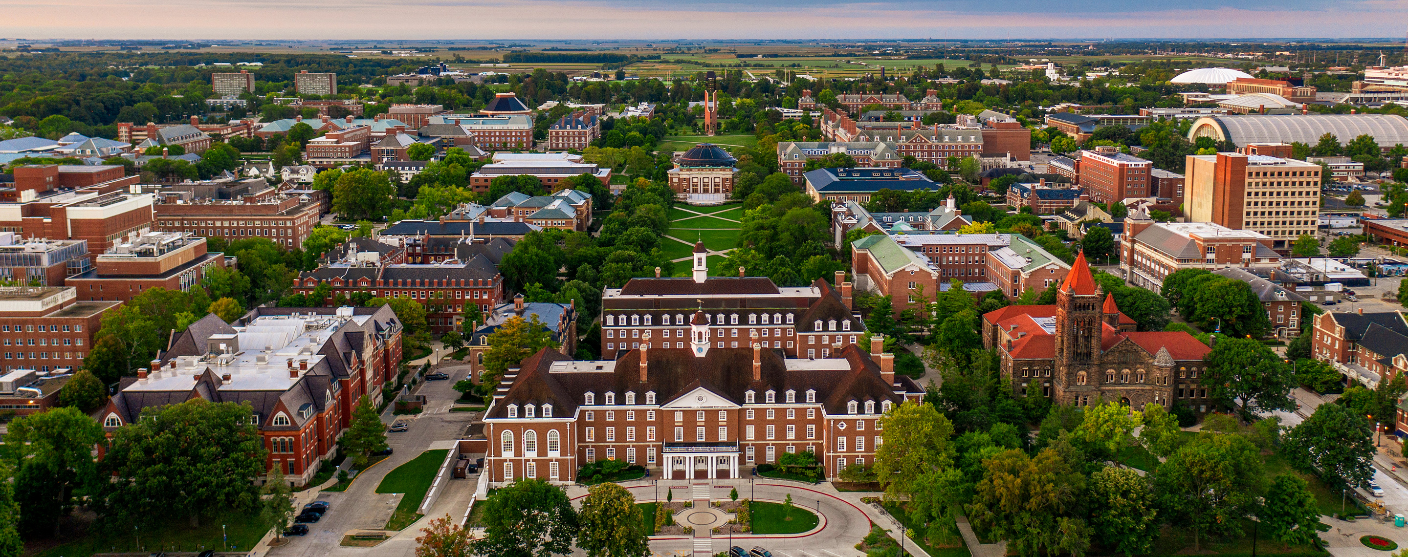
<instances>
[{"instance_id":1,"label":"flat-roofed brick building with pale stepped upper storey, far left","mask_svg":"<svg viewBox=\"0 0 1408 557\"><path fill-rule=\"evenodd\" d=\"M149 288L190 291L211 269L225 267L224 253L207 253L206 239L184 232L148 232L127 238L94 257L93 269L69 277L80 300L128 301Z\"/></svg>"}]
</instances>

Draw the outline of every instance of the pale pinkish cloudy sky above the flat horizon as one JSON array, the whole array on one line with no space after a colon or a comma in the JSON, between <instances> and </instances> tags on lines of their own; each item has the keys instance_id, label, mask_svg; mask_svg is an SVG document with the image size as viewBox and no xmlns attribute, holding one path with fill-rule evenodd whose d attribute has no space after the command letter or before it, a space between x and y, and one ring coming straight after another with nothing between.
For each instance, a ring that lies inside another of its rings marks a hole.
<instances>
[{"instance_id":1,"label":"pale pinkish cloudy sky above the flat horizon","mask_svg":"<svg viewBox=\"0 0 1408 557\"><path fill-rule=\"evenodd\" d=\"M1404 37L1408 0L4 0L0 38Z\"/></svg>"}]
</instances>

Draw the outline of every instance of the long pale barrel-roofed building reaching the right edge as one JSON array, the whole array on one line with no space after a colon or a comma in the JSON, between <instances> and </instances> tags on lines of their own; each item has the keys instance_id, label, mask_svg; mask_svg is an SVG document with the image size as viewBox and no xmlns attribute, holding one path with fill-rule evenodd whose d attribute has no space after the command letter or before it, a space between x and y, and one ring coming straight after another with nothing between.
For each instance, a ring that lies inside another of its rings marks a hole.
<instances>
[{"instance_id":1,"label":"long pale barrel-roofed building reaching the right edge","mask_svg":"<svg viewBox=\"0 0 1408 557\"><path fill-rule=\"evenodd\" d=\"M1188 139L1214 138L1238 146L1297 141L1315 145L1325 134L1335 134L1340 143L1369 135L1388 149L1394 143L1408 145L1408 120L1393 114L1209 115L1193 122Z\"/></svg>"}]
</instances>

